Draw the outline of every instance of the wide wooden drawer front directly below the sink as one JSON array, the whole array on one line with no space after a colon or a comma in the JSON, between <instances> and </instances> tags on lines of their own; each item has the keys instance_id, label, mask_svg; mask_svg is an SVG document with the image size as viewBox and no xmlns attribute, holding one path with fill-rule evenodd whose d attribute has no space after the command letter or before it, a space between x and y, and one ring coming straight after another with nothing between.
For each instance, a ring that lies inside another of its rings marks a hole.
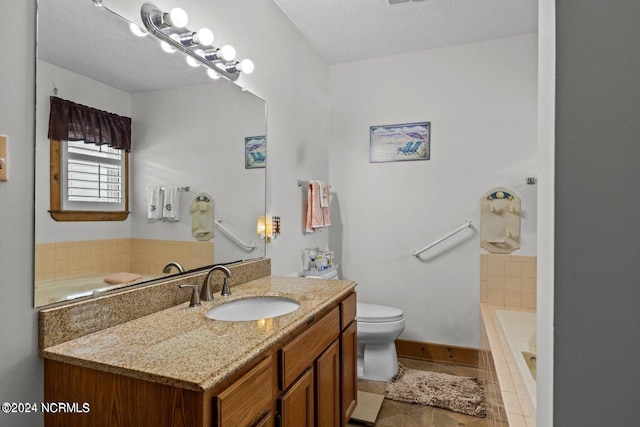
<instances>
[{"instance_id":1,"label":"wide wooden drawer front directly below the sink","mask_svg":"<svg viewBox=\"0 0 640 427\"><path fill-rule=\"evenodd\" d=\"M340 333L340 309L334 308L280 350L280 387L285 390Z\"/></svg>"}]
</instances>

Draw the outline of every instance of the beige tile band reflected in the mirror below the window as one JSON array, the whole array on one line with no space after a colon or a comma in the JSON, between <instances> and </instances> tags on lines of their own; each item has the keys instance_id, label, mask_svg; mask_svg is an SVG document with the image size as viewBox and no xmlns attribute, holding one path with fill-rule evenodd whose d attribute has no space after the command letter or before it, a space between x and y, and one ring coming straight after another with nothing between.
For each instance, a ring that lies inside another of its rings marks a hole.
<instances>
[{"instance_id":1,"label":"beige tile band reflected in the mirror below the window","mask_svg":"<svg viewBox=\"0 0 640 427\"><path fill-rule=\"evenodd\" d=\"M212 242L157 239L79 240L38 243L35 248L35 280L39 286L56 279L95 271L127 271L143 276L162 276L162 268L178 261L187 270L211 264Z\"/></svg>"}]
</instances>

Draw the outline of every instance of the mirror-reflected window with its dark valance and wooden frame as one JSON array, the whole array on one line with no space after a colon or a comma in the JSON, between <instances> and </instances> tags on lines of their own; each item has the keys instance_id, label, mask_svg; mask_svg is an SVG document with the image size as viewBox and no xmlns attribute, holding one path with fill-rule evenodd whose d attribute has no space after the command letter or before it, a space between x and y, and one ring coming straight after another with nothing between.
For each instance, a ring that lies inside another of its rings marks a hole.
<instances>
[{"instance_id":1,"label":"mirror-reflected window with its dark valance and wooden frame","mask_svg":"<svg viewBox=\"0 0 640 427\"><path fill-rule=\"evenodd\" d=\"M50 107L51 217L126 219L131 118L55 96L50 97Z\"/></svg>"}]
</instances>

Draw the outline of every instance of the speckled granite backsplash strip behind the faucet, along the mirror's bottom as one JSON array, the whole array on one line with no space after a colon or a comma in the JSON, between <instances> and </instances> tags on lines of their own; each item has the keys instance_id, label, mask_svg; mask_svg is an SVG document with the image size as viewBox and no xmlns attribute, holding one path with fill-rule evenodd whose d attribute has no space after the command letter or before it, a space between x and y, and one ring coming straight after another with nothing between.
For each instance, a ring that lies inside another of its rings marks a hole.
<instances>
[{"instance_id":1,"label":"speckled granite backsplash strip behind the faucet, along the mirror's bottom","mask_svg":"<svg viewBox=\"0 0 640 427\"><path fill-rule=\"evenodd\" d=\"M271 260L258 259L228 265L233 273L229 284L234 286L271 274ZM180 276L159 283L123 289L97 298L44 308L38 312L38 348L47 347L88 335L121 323L168 309L189 301L191 289L181 284L202 284L207 271ZM213 291L220 293L223 275L213 276Z\"/></svg>"}]
</instances>

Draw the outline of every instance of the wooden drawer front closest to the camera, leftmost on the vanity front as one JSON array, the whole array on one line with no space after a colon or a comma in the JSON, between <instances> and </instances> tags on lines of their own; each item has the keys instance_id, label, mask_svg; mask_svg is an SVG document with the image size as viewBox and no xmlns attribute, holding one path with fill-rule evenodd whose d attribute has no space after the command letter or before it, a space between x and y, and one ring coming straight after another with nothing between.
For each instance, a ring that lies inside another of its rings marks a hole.
<instances>
[{"instance_id":1,"label":"wooden drawer front closest to the camera, leftmost on the vanity front","mask_svg":"<svg viewBox=\"0 0 640 427\"><path fill-rule=\"evenodd\" d=\"M269 355L216 398L217 425L248 426L273 400L273 363Z\"/></svg>"}]
</instances>

